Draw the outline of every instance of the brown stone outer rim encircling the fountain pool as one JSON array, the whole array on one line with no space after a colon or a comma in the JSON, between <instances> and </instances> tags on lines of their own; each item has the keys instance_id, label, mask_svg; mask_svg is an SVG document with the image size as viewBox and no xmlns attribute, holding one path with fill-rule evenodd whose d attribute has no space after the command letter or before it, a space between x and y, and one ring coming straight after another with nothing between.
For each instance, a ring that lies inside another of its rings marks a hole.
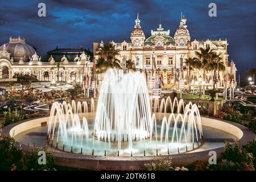
<instances>
[{"instance_id":1,"label":"brown stone outer rim encircling the fountain pool","mask_svg":"<svg viewBox=\"0 0 256 182\"><path fill-rule=\"evenodd\" d=\"M11 137L10 131L13 127L18 126L24 122L32 121L35 119L44 119L48 117L38 117L26 119L24 121L19 121L7 125L2 129L2 136ZM240 125L238 123L224 121L217 118L202 117L206 119L213 119L218 122L225 122L230 125L233 125L242 131L242 137L238 140L240 142L240 147L245 145L247 142L256 139L256 135L248 129L247 127ZM41 121L42 122L42 121ZM34 127L31 127L31 129ZM226 131L229 133L228 131ZM14 135L15 136L15 135ZM28 146L26 144L16 142L16 146L22 146L22 150L26 151ZM233 143L234 144L234 143ZM220 157L224 147L218 147L212 149L216 151L217 157ZM84 155L76 154L61 150L55 150L55 163L59 166L74 167L74 168L90 168L90 169L104 169L104 170L141 170L144 169L144 164L152 162L152 160L164 156L165 158L172 158L172 164L174 166L188 166L194 163L196 160L203 160L205 162L209 159L209 151L205 150L192 153L182 153L174 155L158 155L158 156L99 156L99 155Z\"/></svg>"}]
</instances>

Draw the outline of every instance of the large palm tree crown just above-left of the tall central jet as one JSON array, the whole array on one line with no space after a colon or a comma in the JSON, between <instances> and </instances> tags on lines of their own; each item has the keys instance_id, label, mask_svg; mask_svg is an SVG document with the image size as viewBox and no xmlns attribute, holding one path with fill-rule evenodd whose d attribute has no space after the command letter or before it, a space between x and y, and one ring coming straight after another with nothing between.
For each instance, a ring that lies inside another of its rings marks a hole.
<instances>
[{"instance_id":1,"label":"large palm tree crown just above-left of the tall central jet","mask_svg":"<svg viewBox=\"0 0 256 182\"><path fill-rule=\"evenodd\" d=\"M99 59L97 60L96 67L98 73L104 73L108 68L121 68L120 60L116 58L119 51L115 50L114 44L104 44L98 51Z\"/></svg>"}]
</instances>

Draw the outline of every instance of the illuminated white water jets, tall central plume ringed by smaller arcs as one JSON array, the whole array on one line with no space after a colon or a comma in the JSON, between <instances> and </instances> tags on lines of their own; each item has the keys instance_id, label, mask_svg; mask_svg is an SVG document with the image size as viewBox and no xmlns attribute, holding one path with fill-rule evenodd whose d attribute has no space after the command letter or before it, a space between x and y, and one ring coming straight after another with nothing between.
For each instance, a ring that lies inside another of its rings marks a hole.
<instances>
[{"instance_id":1,"label":"illuminated white water jets, tall central plume ringed by smaller arcs","mask_svg":"<svg viewBox=\"0 0 256 182\"><path fill-rule=\"evenodd\" d=\"M196 105L170 97L150 100L141 73L110 69L96 112L93 98L52 105L48 140L87 155L153 156L195 149L203 143L203 129Z\"/></svg>"}]
</instances>

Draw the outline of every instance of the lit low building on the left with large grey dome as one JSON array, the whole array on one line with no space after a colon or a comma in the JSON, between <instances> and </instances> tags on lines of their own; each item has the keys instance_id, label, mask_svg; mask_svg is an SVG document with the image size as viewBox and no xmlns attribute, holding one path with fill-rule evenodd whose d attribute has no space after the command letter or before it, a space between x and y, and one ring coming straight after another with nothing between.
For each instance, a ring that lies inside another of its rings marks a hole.
<instances>
[{"instance_id":1,"label":"lit low building on the left with large grey dome","mask_svg":"<svg viewBox=\"0 0 256 182\"><path fill-rule=\"evenodd\" d=\"M81 82L90 74L93 53L84 48L58 48L39 57L25 39L10 38L0 47L0 78L15 74L34 76L39 81ZM57 66L59 64L59 69ZM58 73L59 72L59 73Z\"/></svg>"}]
</instances>

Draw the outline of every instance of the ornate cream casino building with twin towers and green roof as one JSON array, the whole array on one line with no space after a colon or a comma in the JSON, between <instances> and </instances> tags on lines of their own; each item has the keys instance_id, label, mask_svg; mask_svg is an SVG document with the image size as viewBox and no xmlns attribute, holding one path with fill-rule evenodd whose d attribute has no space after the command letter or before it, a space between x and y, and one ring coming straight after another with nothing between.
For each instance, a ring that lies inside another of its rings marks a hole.
<instances>
[{"instance_id":1,"label":"ornate cream casino building with twin towers and green roof","mask_svg":"<svg viewBox=\"0 0 256 182\"><path fill-rule=\"evenodd\" d=\"M188 88L188 74L185 59L195 57L195 52L200 48L213 49L221 55L225 63L225 72L220 73L218 88L229 86L230 82L236 84L236 65L229 60L227 40L196 40L191 39L189 34L187 19L181 16L179 27L171 35L170 30L164 30L162 24L156 30L151 30L151 36L146 38L142 30L141 20L137 16L135 26L131 32L130 41L124 40L122 43L115 43L115 49L119 51L117 59L125 63L125 60L134 61L137 71L145 74L147 82L159 80L166 88L179 88L179 82L183 81L185 88ZM94 43L93 50L96 60L97 51L104 43ZM203 70L193 69L191 72L191 85L198 86L199 77L203 77ZM232 81L232 78L234 80ZM207 79L204 80L205 86L213 86L211 72L207 72Z\"/></svg>"}]
</instances>

